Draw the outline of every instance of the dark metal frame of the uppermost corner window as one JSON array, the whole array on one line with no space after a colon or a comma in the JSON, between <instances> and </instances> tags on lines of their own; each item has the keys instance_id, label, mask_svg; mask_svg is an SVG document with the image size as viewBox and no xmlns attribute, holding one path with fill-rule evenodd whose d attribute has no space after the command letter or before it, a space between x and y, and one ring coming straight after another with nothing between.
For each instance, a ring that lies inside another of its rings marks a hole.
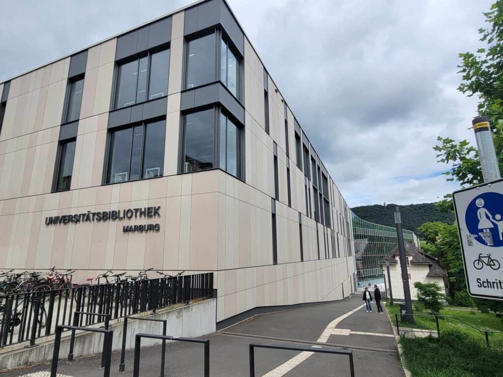
<instances>
[{"instance_id":1,"label":"dark metal frame of the uppermost corner window","mask_svg":"<svg viewBox=\"0 0 503 377\"><path fill-rule=\"evenodd\" d=\"M208 35L213 34L213 41L215 43L215 57L214 57L214 63L215 63L215 71L213 75L213 80L209 82L205 82L199 85L195 85L192 87L187 87L187 79L188 79L188 67L187 67L187 62L189 60L189 47L188 44L196 39L207 37ZM222 81L220 77L220 57L221 57L221 42L224 41L225 44L227 45L227 48L230 48L232 53L237 59L237 62L239 64L239 68L237 70L237 77L236 77L236 94L234 95L233 92L229 90L226 84ZM241 55L239 50L236 48L234 45L234 42L232 39L228 36L228 34L225 32L225 30L217 25L217 26L212 26L208 29L198 31L196 33L193 33L189 36L185 36L184 38L184 52L183 52L183 65L182 65L182 91L187 91L187 90L193 90L202 86L207 86L209 84L213 84L215 82L221 83L227 91L230 93L231 96L233 96L241 105L244 104L244 56Z\"/></svg>"}]
</instances>

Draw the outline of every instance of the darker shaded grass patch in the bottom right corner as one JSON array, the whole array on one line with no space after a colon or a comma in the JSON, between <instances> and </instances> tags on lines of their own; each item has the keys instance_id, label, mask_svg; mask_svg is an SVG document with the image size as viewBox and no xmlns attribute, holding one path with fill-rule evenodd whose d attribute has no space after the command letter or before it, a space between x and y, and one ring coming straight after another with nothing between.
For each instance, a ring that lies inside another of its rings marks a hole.
<instances>
[{"instance_id":1,"label":"darker shaded grass patch in the bottom right corner","mask_svg":"<svg viewBox=\"0 0 503 377\"><path fill-rule=\"evenodd\" d=\"M400 344L412 377L503 376L503 352L458 331L446 331L440 338L401 337Z\"/></svg>"}]
</instances>

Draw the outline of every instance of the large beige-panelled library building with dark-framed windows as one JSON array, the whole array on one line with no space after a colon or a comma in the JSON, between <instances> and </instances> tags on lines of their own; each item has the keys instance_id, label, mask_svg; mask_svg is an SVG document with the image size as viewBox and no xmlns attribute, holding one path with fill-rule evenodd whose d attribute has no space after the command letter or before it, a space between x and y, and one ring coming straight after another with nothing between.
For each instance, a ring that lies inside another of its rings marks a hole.
<instances>
[{"instance_id":1,"label":"large beige-panelled library building with dark-framed windows","mask_svg":"<svg viewBox=\"0 0 503 377\"><path fill-rule=\"evenodd\" d=\"M213 271L218 321L354 292L351 211L223 0L0 93L0 266Z\"/></svg>"}]
</instances>

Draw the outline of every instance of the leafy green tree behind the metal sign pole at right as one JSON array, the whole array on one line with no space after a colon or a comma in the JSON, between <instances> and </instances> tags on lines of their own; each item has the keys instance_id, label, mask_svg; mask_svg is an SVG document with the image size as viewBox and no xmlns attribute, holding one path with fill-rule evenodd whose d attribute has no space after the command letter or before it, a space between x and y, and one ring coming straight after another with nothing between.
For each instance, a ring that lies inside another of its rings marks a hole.
<instances>
[{"instance_id":1,"label":"leafy green tree behind the metal sign pole at right","mask_svg":"<svg viewBox=\"0 0 503 377\"><path fill-rule=\"evenodd\" d=\"M503 0L497 0L484 13L487 28L479 29L481 48L476 52L460 53L459 73L462 81L458 89L465 95L477 96L479 115L489 117L492 137L499 169L503 171ZM482 182L482 172L477 149L466 140L455 141L449 137L438 137L439 144L434 147L439 162L452 165L444 174L447 180L458 181L471 186ZM438 208L448 211L450 199L441 202ZM462 266L461 255L451 253L448 260ZM456 259L456 260L455 260ZM451 273L451 270L448 270ZM491 310L503 320L503 301L475 300L481 311Z\"/></svg>"}]
</instances>

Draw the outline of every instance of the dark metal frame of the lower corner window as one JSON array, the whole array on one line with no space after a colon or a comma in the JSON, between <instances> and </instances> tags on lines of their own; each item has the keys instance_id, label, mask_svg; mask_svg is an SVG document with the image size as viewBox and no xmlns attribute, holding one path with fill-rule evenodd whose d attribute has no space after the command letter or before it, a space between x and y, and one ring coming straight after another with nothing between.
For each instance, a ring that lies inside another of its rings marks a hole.
<instances>
[{"instance_id":1,"label":"dark metal frame of the lower corner window","mask_svg":"<svg viewBox=\"0 0 503 377\"><path fill-rule=\"evenodd\" d=\"M185 171L185 142L186 142L186 117L187 115L199 113L205 110L213 110L213 168L202 169L196 171ZM238 147L240 149L240 158L237 163L237 175L229 173L227 170L220 168L220 114L224 115L227 119L230 118L232 123L237 126L239 131L239 143ZM184 112L180 120L180 142L179 142L179 156L178 156L178 173L197 173L198 171L208 171L214 169L220 169L226 173L236 177L244 182L245 178L245 145L244 145L244 125L241 124L230 112L219 105L203 106L200 108L192 109L191 111Z\"/></svg>"}]
</instances>

